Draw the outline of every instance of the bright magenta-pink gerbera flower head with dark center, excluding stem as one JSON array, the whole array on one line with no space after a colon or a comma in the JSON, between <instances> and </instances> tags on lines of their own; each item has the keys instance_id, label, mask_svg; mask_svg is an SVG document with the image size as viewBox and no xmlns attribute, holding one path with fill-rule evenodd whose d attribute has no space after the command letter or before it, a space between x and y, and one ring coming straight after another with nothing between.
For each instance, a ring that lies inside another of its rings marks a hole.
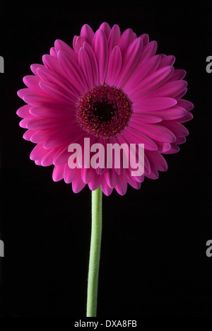
<instances>
[{"instance_id":1,"label":"bright magenta-pink gerbera flower head with dark center, excluding stem","mask_svg":"<svg viewBox=\"0 0 212 331\"><path fill-rule=\"evenodd\" d=\"M83 25L73 49L56 40L43 64L33 64L18 91L27 105L18 109L23 138L36 144L30 158L54 165L53 180L72 183L73 192L88 184L109 195L125 194L127 183L139 189L146 177L167 170L162 154L176 153L188 134L182 125L192 119L193 105L182 99L186 72L174 69L175 57L156 54L157 42L131 30L120 32L102 23L94 33ZM144 144L144 173L130 168L69 167L69 145Z\"/></svg>"}]
</instances>

